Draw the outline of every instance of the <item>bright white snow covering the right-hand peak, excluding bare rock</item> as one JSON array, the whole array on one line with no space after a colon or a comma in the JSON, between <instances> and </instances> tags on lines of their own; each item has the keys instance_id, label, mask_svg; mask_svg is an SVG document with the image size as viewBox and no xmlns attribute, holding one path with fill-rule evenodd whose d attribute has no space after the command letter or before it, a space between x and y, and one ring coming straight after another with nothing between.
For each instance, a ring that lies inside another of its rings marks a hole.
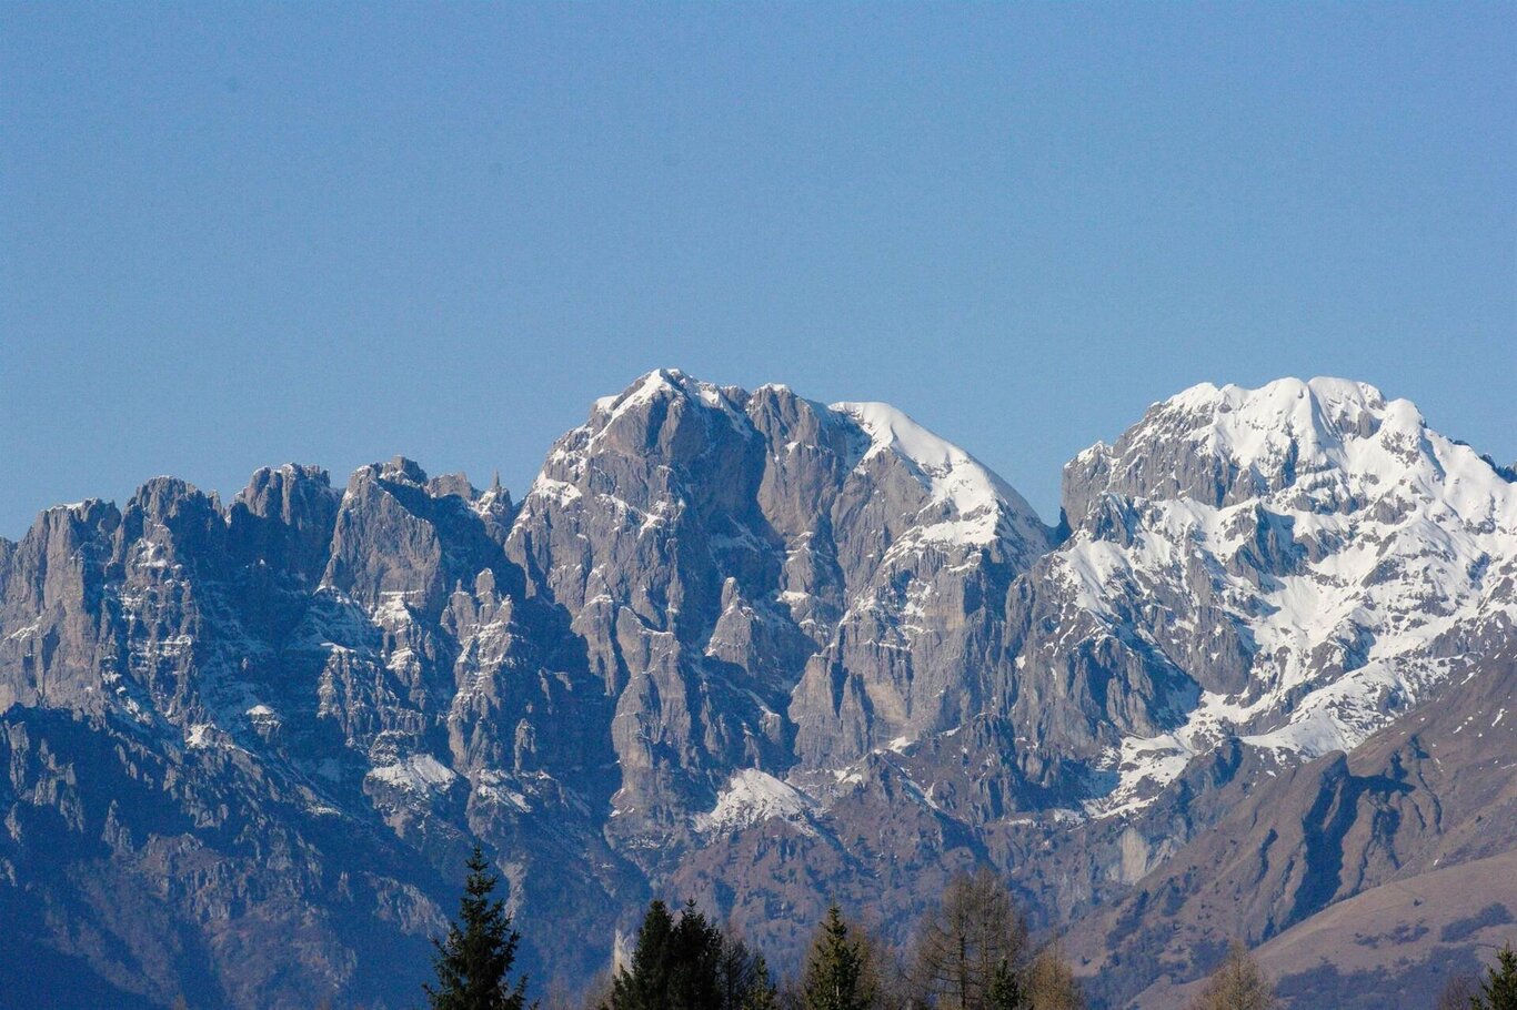
<instances>
[{"instance_id":1,"label":"bright white snow covering the right-hand peak, excluding bare rock","mask_svg":"<svg viewBox=\"0 0 1517 1010\"><path fill-rule=\"evenodd\" d=\"M1444 635L1517 619L1505 588L1517 572L1517 485L1429 429L1409 400L1344 379L1201 384L1097 452L1132 461L1173 452L1177 440L1268 479L1224 505L1183 493L1148 500L1130 544L1082 532L1057 563L1080 607L1117 620L1118 605L1148 585L1186 598L1194 558L1217 560L1209 588L1256 645L1252 684L1238 696L1203 695L1171 734L1126 740L1109 808L1230 732L1306 755L1353 749L1394 717L1387 699L1415 701L1449 676L1458 657ZM1258 582L1236 561L1256 508L1312 544L1299 569ZM1324 652L1352 661L1333 669L1314 658Z\"/></svg>"}]
</instances>

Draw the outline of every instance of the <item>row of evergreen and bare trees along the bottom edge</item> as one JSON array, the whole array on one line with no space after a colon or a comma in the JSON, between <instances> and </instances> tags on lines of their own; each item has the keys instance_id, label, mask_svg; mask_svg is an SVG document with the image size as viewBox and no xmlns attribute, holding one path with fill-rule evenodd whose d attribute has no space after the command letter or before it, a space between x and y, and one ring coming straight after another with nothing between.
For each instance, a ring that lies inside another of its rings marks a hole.
<instances>
[{"instance_id":1,"label":"row of evergreen and bare trees along the bottom edge","mask_svg":"<svg viewBox=\"0 0 1517 1010\"><path fill-rule=\"evenodd\" d=\"M458 919L434 940L432 1010L528 1010L513 977L520 934L493 898L498 878L476 848ZM1462 980L1437 1010L1517 1010L1517 954L1503 949L1484 980ZM1186 1010L1276 1010L1274 986L1241 943ZM725 933L695 902L654 901L627 963L581 1001L548 1010L1085 1010L1057 940L1035 943L1006 886L989 869L954 877L898 951L833 904L799 974L778 980L765 955Z\"/></svg>"}]
</instances>

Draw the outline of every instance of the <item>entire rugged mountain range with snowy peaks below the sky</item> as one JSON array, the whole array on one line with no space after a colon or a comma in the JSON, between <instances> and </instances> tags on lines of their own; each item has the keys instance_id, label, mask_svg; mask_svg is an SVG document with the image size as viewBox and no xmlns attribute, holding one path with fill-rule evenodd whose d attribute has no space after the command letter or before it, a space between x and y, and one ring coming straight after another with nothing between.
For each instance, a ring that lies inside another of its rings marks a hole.
<instances>
[{"instance_id":1,"label":"entire rugged mountain range with snowy peaks below the sky","mask_svg":"<svg viewBox=\"0 0 1517 1010\"><path fill-rule=\"evenodd\" d=\"M1429 1007L1517 934L1514 478L1365 384L1208 384L1050 526L887 405L658 370L520 500L50 508L0 540L0 1004L408 1005L479 843L545 987L652 896L789 968L989 863L1100 1007L1230 937Z\"/></svg>"}]
</instances>

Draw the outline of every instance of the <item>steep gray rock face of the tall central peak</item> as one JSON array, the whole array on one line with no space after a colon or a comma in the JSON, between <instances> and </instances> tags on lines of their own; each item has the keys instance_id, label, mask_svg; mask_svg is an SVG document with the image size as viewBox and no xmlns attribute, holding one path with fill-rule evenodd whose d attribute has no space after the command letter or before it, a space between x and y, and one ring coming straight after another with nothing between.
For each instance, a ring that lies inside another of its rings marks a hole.
<instances>
[{"instance_id":1,"label":"steep gray rock face of the tall central peak","mask_svg":"<svg viewBox=\"0 0 1517 1010\"><path fill-rule=\"evenodd\" d=\"M890 408L655 372L554 446L508 552L617 698L616 831L657 836L733 769L957 725L1048 546L1015 491Z\"/></svg>"}]
</instances>

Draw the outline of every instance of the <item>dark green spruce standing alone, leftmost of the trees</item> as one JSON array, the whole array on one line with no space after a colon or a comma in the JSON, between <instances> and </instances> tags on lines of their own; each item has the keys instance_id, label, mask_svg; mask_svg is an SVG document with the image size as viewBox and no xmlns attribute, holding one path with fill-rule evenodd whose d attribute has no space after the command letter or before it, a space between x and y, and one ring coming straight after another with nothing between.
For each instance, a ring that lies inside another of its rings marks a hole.
<instances>
[{"instance_id":1,"label":"dark green spruce standing alone, leftmost of the trees","mask_svg":"<svg viewBox=\"0 0 1517 1010\"><path fill-rule=\"evenodd\" d=\"M476 845L469 857L469 878L458 919L446 940L432 940L437 986L423 986L432 1010L525 1010L526 978L510 984L520 934L511 928L505 905L492 898L499 883Z\"/></svg>"}]
</instances>

